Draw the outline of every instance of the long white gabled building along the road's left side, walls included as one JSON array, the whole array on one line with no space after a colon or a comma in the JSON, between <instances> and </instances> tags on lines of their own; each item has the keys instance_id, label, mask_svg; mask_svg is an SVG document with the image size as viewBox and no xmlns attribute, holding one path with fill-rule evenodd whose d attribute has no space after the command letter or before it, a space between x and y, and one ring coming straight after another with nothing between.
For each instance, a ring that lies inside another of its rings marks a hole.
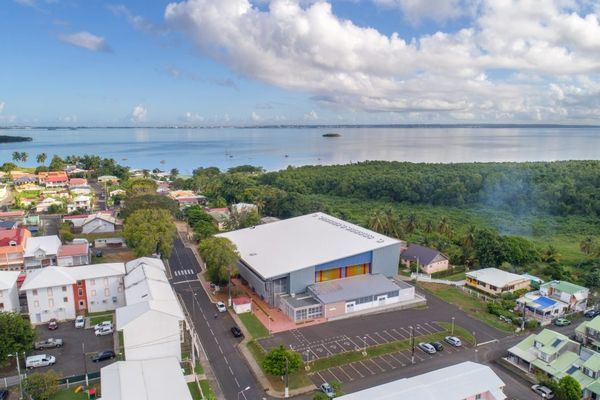
<instances>
[{"instance_id":1,"label":"long white gabled building along the road's left side, walls included","mask_svg":"<svg viewBox=\"0 0 600 400\"><path fill-rule=\"evenodd\" d=\"M143 258L127 263L125 268L127 306L117 309L125 358L174 357L181 361L185 317L162 261Z\"/></svg>"}]
</instances>

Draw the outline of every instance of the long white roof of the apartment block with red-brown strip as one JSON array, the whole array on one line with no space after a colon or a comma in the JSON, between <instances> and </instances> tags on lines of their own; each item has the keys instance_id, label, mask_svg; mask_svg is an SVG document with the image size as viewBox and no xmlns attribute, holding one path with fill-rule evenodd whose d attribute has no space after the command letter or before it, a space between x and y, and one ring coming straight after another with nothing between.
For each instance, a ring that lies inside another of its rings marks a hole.
<instances>
[{"instance_id":1,"label":"long white roof of the apartment block with red-brown strip","mask_svg":"<svg viewBox=\"0 0 600 400\"><path fill-rule=\"evenodd\" d=\"M21 290L72 285L79 280L125 275L123 263L90 264L80 267L45 267L27 274Z\"/></svg>"}]
</instances>

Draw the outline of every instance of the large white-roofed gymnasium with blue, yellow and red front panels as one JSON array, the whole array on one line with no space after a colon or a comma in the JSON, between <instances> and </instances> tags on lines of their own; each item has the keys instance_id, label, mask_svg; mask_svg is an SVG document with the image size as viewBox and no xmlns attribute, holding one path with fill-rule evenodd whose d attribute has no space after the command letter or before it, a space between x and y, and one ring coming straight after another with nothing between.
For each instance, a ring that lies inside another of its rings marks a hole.
<instances>
[{"instance_id":1,"label":"large white-roofed gymnasium with blue, yellow and red front panels","mask_svg":"<svg viewBox=\"0 0 600 400\"><path fill-rule=\"evenodd\" d=\"M328 302L336 304L334 317L342 309L351 313L414 299L414 289L389 279L398 273L401 241L327 214L217 236L237 247L242 279L293 321L327 317Z\"/></svg>"}]
</instances>

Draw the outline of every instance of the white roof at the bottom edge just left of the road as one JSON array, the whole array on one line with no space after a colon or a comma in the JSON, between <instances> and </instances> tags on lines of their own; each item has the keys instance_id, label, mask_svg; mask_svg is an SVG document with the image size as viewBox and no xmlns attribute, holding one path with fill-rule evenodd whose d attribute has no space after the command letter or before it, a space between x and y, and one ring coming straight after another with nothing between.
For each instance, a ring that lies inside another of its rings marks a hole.
<instances>
[{"instance_id":1,"label":"white roof at the bottom edge just left of the road","mask_svg":"<svg viewBox=\"0 0 600 400\"><path fill-rule=\"evenodd\" d=\"M192 400L174 357L118 361L100 374L104 400Z\"/></svg>"}]
</instances>

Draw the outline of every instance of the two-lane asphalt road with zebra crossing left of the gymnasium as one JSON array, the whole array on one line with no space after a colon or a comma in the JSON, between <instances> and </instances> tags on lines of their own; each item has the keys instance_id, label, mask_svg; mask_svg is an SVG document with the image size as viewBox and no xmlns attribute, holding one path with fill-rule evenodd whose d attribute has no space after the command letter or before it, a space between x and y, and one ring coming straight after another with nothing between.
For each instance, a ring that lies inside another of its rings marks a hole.
<instances>
[{"instance_id":1,"label":"two-lane asphalt road with zebra crossing left of the gymnasium","mask_svg":"<svg viewBox=\"0 0 600 400\"><path fill-rule=\"evenodd\" d=\"M231 327L235 325L233 318L229 313L217 312L215 305L195 277L195 274L200 272L196 257L179 238L175 240L169 266L173 275L171 285L181 296L191 315L225 398L238 400L238 393L250 386L250 389L242 393L239 398L266 399L267 396L235 347L239 339L234 338L230 332Z\"/></svg>"}]
</instances>

